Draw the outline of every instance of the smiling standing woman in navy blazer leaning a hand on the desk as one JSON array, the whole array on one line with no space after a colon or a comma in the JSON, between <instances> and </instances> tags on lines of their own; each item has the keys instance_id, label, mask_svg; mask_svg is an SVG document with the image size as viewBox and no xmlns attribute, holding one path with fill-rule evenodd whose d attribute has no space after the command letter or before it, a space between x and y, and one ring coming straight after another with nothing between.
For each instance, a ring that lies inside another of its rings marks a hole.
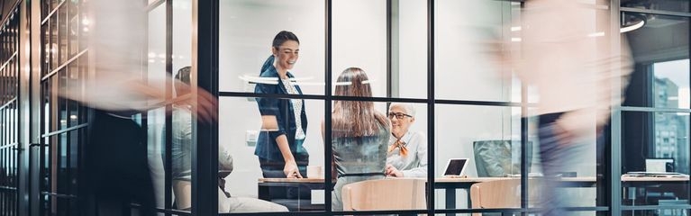
<instances>
[{"instance_id":1,"label":"smiling standing woman in navy blazer leaning a hand on the desk","mask_svg":"<svg viewBox=\"0 0 691 216\"><path fill-rule=\"evenodd\" d=\"M290 31L280 31L271 48L272 55L261 67L257 84L259 94L303 94L300 86L290 79L289 72L298 58L300 41ZM277 99L258 97L262 129L254 154L264 177L300 178L306 175L309 155L303 147L307 130L305 101L302 99Z\"/></svg>"}]
</instances>

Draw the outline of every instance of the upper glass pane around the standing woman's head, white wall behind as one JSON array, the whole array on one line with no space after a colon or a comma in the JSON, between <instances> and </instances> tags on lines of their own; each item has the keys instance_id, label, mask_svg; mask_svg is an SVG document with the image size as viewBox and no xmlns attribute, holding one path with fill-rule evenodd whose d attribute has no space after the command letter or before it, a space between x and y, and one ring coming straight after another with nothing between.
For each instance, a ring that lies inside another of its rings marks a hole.
<instances>
[{"instance_id":1,"label":"upper glass pane around the standing woman's head, white wall behind","mask_svg":"<svg viewBox=\"0 0 691 216\"><path fill-rule=\"evenodd\" d=\"M290 73L303 94L324 94L323 1L221 0L219 6L220 91L253 93L274 36L292 31L300 44Z\"/></svg>"}]
</instances>

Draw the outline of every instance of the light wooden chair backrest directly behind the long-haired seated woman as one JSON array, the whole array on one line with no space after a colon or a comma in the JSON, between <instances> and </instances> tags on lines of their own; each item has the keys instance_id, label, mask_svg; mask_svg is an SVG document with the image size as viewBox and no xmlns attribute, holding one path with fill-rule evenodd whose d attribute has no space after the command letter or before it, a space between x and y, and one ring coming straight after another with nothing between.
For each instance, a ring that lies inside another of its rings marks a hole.
<instances>
[{"instance_id":1,"label":"light wooden chair backrest directly behind the long-haired seated woman","mask_svg":"<svg viewBox=\"0 0 691 216\"><path fill-rule=\"evenodd\" d=\"M426 180L386 178L345 184L343 211L420 210L427 208Z\"/></svg>"}]
</instances>

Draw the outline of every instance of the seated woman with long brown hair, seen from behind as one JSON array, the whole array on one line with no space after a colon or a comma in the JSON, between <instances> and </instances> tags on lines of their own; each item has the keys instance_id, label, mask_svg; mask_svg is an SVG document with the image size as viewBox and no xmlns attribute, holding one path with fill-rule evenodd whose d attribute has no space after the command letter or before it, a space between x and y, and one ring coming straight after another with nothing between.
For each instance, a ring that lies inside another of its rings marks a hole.
<instances>
[{"instance_id":1,"label":"seated woman with long brown hair, seen from behind","mask_svg":"<svg viewBox=\"0 0 691 216\"><path fill-rule=\"evenodd\" d=\"M360 68L345 69L336 81L338 96L372 96L368 76ZM322 132L324 124L322 123ZM374 103L335 101L332 112L333 168L337 182L333 187L332 210L342 211L343 185L385 177L386 147L391 126Z\"/></svg>"}]
</instances>

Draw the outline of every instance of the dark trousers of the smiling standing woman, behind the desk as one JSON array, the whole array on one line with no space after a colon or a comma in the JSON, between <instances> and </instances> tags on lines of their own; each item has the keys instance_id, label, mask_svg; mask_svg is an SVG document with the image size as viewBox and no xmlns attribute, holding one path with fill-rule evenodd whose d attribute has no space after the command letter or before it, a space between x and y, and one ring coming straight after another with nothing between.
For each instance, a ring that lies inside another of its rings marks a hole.
<instances>
[{"instance_id":1,"label":"dark trousers of the smiling standing woman, behind the desk","mask_svg":"<svg viewBox=\"0 0 691 216\"><path fill-rule=\"evenodd\" d=\"M300 175L307 177L307 164L309 157L295 158L297 169L300 170ZM268 160L259 157L259 166L261 167L261 175L265 178L285 178L283 167L286 166L285 161ZM308 186L300 187L271 187L268 189L268 194L272 199L311 199L312 192Z\"/></svg>"}]
</instances>

